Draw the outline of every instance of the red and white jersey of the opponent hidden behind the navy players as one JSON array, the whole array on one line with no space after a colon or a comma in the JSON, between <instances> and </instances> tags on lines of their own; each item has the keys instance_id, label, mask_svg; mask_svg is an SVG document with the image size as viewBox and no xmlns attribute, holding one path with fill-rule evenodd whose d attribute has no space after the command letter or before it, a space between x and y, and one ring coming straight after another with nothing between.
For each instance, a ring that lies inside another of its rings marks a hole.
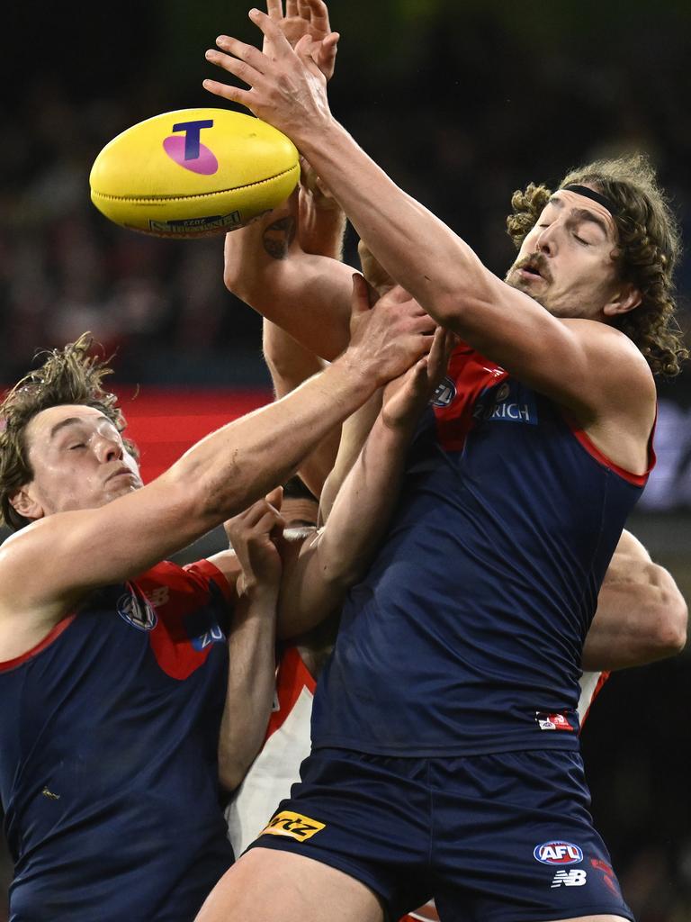
<instances>
[{"instance_id":1,"label":"red and white jersey of the opponent hidden behind the navy players","mask_svg":"<svg viewBox=\"0 0 691 922\"><path fill-rule=\"evenodd\" d=\"M578 712L582 727L592 702L609 677L608 672L584 672L580 678ZM257 755L235 797L226 808L228 838L239 857L262 832L278 803L287 798L299 781L301 762L310 754L310 723L316 682L297 647L287 647L276 672L274 709L266 731L264 748ZM439 919L434 903L417 909L409 920Z\"/></svg>"}]
</instances>

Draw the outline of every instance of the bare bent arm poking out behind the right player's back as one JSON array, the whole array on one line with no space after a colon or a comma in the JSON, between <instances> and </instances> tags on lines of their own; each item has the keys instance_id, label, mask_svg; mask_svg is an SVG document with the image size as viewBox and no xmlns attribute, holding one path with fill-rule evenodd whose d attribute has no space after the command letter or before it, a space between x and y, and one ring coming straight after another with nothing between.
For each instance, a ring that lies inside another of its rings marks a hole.
<instances>
[{"instance_id":1,"label":"bare bent arm poking out behind the right player's back","mask_svg":"<svg viewBox=\"0 0 691 922\"><path fill-rule=\"evenodd\" d=\"M591 671L644 666L684 649L688 609L670 573L623 532L583 647Z\"/></svg>"}]
</instances>

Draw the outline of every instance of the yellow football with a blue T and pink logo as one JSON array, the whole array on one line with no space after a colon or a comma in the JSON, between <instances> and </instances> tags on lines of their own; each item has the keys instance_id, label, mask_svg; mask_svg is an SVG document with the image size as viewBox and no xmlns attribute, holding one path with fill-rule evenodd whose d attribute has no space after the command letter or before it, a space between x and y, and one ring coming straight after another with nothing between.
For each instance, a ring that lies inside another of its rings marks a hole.
<instances>
[{"instance_id":1,"label":"yellow football with a blue T and pink logo","mask_svg":"<svg viewBox=\"0 0 691 922\"><path fill-rule=\"evenodd\" d=\"M299 180L292 141L270 124L225 109L146 119L96 158L91 201L116 224L157 237L225 233L270 211Z\"/></svg>"}]
</instances>

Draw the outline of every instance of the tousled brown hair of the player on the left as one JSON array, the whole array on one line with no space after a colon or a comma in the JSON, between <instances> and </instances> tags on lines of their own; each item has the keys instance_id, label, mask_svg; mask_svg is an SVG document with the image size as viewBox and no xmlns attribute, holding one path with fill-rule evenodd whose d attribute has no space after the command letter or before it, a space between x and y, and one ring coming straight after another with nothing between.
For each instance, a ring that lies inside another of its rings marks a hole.
<instances>
[{"instance_id":1,"label":"tousled brown hair of the player on the left","mask_svg":"<svg viewBox=\"0 0 691 922\"><path fill-rule=\"evenodd\" d=\"M9 391L0 405L0 524L17 531L29 525L18 514L11 498L34 477L29 461L27 426L41 410L64 404L81 404L99 409L122 432L125 420L117 397L103 389L102 379L111 373L107 361L88 354L93 344L84 333L64 349L45 353L41 368L29 372ZM132 443L127 449L136 456Z\"/></svg>"}]
</instances>

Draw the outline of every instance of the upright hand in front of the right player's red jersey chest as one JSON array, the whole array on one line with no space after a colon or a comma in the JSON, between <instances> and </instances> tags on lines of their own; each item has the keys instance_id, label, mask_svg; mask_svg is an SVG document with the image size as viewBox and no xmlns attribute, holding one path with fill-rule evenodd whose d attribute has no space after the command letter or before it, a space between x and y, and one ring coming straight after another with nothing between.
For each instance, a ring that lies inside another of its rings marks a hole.
<instances>
[{"instance_id":1,"label":"upright hand in front of the right player's red jersey chest","mask_svg":"<svg viewBox=\"0 0 691 922\"><path fill-rule=\"evenodd\" d=\"M390 428L415 425L446 374L458 337L439 326L429 354L384 388L381 417Z\"/></svg>"}]
</instances>

